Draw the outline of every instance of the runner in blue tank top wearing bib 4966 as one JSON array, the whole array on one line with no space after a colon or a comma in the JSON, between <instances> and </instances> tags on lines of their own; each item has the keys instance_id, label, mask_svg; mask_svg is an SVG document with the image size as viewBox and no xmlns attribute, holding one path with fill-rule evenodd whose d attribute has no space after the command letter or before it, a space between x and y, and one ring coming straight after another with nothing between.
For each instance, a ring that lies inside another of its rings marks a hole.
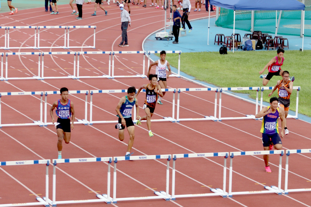
<instances>
[{"instance_id":1,"label":"runner in blue tank top wearing bib 4966","mask_svg":"<svg viewBox=\"0 0 311 207\"><path fill-rule=\"evenodd\" d=\"M75 120L75 110L73 109L73 103L68 99L68 89L60 89L61 99L55 101L50 108L50 115L52 117L52 123L54 124L53 110L56 108L57 125L56 132L58 136L57 149L58 159L62 159L63 139L65 143L70 142L71 129L73 129L73 122ZM72 123L70 124L70 117L72 116Z\"/></svg>"}]
</instances>

